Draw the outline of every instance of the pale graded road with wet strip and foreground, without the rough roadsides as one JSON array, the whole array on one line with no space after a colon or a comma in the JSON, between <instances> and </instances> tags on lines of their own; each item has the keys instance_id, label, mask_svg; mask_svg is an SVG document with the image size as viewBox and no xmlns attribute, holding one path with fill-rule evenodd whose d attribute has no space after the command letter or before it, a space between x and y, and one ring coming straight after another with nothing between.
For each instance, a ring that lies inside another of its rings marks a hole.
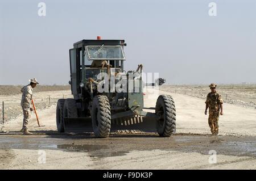
<instances>
[{"instance_id":1,"label":"pale graded road with wet strip and foreground, without the rough roadsides","mask_svg":"<svg viewBox=\"0 0 256 181\"><path fill-rule=\"evenodd\" d=\"M159 94L170 94L170 92L160 91ZM89 133L89 136L79 138L71 135L54 136L56 134L55 105L52 105L39 112L40 121L46 125L45 127L39 128L36 125L34 115L30 123L31 131L46 133L46 135L9 137L5 134L0 136L0 143L2 143L0 144L0 168L256 169L256 110L224 104L224 116L220 117L219 122L220 136L212 137L209 136L208 117L204 115L204 100L188 95L173 93L171 95L176 104L177 122L176 134L170 138L160 138L154 133L110 135L105 139L95 139ZM145 106L154 107L156 98L156 95L147 92L144 99ZM2 129L15 133L21 127L22 117L19 116ZM50 132L55 134L47 134ZM36 141L37 139L42 141ZM34 144L33 141L35 141ZM56 142L59 142L59 145L69 146L58 146ZM87 145L87 147L82 149L74 145ZM97 145L103 147L97 147ZM104 147L109 145L115 147ZM141 145L142 148L140 148ZM41 147L46 150L45 164L38 162L38 150ZM109 154L104 157L97 155L106 150ZM209 163L209 150L218 150L216 163ZM94 154L95 151L96 154Z\"/></svg>"}]
</instances>

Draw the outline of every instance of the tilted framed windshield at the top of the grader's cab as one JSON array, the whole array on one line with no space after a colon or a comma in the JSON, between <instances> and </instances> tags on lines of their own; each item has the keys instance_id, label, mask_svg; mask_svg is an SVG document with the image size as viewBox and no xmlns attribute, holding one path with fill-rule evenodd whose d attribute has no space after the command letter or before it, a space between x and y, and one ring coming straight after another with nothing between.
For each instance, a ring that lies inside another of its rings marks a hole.
<instances>
[{"instance_id":1,"label":"tilted framed windshield at the top of the grader's cab","mask_svg":"<svg viewBox=\"0 0 256 181\"><path fill-rule=\"evenodd\" d=\"M121 46L105 46L102 44L86 46L88 60L125 60Z\"/></svg>"}]
</instances>

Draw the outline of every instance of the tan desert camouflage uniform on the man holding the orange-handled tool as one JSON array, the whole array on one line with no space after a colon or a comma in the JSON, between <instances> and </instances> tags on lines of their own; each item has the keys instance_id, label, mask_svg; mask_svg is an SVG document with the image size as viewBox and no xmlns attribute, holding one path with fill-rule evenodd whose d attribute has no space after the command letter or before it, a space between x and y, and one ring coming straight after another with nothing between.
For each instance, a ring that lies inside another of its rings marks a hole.
<instances>
[{"instance_id":1,"label":"tan desert camouflage uniform on the man holding the orange-handled tool","mask_svg":"<svg viewBox=\"0 0 256 181\"><path fill-rule=\"evenodd\" d=\"M27 85L24 86L20 91L23 93L20 105L22 106L23 110L23 129L25 130L28 127L28 119L30 119L31 116L30 108L32 108L31 101L33 89L31 85Z\"/></svg>"}]
</instances>

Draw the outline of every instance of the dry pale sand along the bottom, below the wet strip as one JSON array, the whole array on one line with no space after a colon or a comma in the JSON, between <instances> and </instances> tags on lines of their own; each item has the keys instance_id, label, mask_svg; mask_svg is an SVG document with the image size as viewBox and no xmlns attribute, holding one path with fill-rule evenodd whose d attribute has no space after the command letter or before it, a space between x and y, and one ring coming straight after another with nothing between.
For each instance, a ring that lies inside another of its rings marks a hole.
<instances>
[{"instance_id":1,"label":"dry pale sand along the bottom, below the wet strip","mask_svg":"<svg viewBox=\"0 0 256 181\"><path fill-rule=\"evenodd\" d=\"M130 151L101 159L86 152L46 150L45 163L39 161L38 150L9 150L4 154L1 169L256 169L256 159L251 157L217 155L217 163L210 164L209 155L167 150Z\"/></svg>"}]
</instances>

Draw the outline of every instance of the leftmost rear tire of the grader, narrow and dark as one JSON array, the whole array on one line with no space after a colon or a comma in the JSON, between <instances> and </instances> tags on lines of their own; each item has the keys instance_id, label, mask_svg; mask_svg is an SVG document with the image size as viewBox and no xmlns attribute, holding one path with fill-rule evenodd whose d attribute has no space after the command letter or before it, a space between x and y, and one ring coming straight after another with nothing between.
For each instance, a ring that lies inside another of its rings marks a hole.
<instances>
[{"instance_id":1,"label":"leftmost rear tire of the grader, narrow and dark","mask_svg":"<svg viewBox=\"0 0 256 181\"><path fill-rule=\"evenodd\" d=\"M63 123L63 106L64 106L65 99L59 99L57 102L56 107L56 125L57 131L59 133L64 132L64 123Z\"/></svg>"}]
</instances>

